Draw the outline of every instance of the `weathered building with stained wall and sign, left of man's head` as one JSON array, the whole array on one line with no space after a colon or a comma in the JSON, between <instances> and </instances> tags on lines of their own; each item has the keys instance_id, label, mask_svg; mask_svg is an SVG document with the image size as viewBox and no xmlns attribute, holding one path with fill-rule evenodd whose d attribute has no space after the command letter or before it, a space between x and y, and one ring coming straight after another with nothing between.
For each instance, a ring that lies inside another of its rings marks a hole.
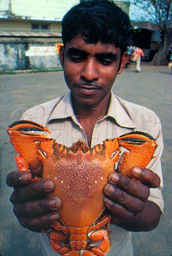
<instances>
[{"instance_id":1,"label":"weathered building with stained wall and sign, left of man's head","mask_svg":"<svg viewBox=\"0 0 172 256\"><path fill-rule=\"evenodd\" d=\"M1 0L0 71L60 68L61 20L76 3Z\"/></svg>"}]
</instances>

